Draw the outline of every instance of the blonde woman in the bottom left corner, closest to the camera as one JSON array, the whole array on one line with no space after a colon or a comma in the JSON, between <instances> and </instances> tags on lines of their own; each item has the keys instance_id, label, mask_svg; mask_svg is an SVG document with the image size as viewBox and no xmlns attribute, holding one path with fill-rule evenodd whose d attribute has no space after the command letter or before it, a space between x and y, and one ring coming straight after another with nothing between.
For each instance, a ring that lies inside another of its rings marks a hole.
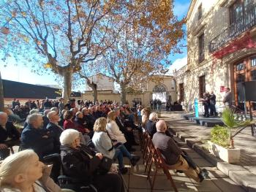
<instances>
[{"instance_id":1,"label":"blonde woman in the bottom left corner, closest to the camera","mask_svg":"<svg viewBox=\"0 0 256 192\"><path fill-rule=\"evenodd\" d=\"M50 179L50 166L39 161L34 150L23 150L5 158L0 166L0 189L4 192L58 192Z\"/></svg>"}]
</instances>

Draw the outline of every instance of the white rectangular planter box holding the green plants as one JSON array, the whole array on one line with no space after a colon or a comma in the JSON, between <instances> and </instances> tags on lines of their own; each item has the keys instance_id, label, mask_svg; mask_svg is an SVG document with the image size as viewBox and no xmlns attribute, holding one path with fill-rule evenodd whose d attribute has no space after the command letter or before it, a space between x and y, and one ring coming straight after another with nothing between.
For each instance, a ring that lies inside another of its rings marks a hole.
<instances>
[{"instance_id":1,"label":"white rectangular planter box holding the green plants","mask_svg":"<svg viewBox=\"0 0 256 192\"><path fill-rule=\"evenodd\" d=\"M240 159L240 149L227 149L208 141L208 150L227 163L237 163Z\"/></svg>"}]
</instances>

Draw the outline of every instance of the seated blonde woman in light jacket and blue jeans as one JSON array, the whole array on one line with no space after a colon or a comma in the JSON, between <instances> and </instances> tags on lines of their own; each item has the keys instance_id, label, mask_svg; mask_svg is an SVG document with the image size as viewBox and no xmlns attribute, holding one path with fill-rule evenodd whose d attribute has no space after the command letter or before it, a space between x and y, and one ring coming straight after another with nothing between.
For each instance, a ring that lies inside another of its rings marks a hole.
<instances>
[{"instance_id":1,"label":"seated blonde woman in light jacket and blue jeans","mask_svg":"<svg viewBox=\"0 0 256 192\"><path fill-rule=\"evenodd\" d=\"M121 142L112 141L106 129L106 118L98 118L94 123L94 137L92 142L96 149L108 158L118 159L118 169L121 174L126 174L128 169L124 167L124 155L129 158L132 166L140 160L138 156L132 156Z\"/></svg>"}]
</instances>

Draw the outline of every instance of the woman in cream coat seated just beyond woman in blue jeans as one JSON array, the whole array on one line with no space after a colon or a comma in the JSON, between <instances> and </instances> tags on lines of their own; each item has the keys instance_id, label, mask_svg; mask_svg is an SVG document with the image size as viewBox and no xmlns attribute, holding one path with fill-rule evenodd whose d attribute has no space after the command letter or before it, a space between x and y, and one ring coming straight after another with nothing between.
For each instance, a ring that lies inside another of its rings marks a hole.
<instances>
[{"instance_id":1,"label":"woman in cream coat seated just beyond woman in blue jeans","mask_svg":"<svg viewBox=\"0 0 256 192\"><path fill-rule=\"evenodd\" d=\"M118 125L116 124L116 112L108 112L107 121L108 123L106 129L110 135L110 138L116 140L116 142L121 142L122 144L126 143L127 139L125 139L124 134L120 131Z\"/></svg>"}]
</instances>

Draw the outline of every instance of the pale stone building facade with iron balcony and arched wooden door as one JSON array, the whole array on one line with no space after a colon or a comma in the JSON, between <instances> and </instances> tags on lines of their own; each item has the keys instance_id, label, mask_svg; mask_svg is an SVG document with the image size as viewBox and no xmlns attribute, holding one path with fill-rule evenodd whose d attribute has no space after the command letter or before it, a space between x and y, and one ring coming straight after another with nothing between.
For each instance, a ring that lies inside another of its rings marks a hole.
<instances>
[{"instance_id":1,"label":"pale stone building facade with iron balcony and arched wooden door","mask_svg":"<svg viewBox=\"0 0 256 192\"><path fill-rule=\"evenodd\" d=\"M233 104L244 105L238 101L238 84L256 80L255 10L255 0L191 1L187 66L174 74L178 99L187 110L193 110L194 99L206 91L214 91L221 109L227 87ZM252 108L256 110L255 103Z\"/></svg>"}]
</instances>

